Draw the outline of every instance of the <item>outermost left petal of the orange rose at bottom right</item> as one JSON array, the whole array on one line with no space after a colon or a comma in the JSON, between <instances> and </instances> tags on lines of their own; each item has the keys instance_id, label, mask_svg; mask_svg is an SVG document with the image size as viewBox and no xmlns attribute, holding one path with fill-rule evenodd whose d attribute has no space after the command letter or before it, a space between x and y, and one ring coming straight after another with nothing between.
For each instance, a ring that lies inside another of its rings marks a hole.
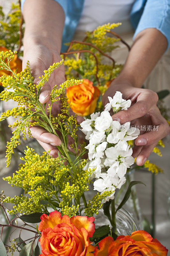
<instances>
[{"instance_id":1,"label":"outermost left petal of the orange rose at bottom right","mask_svg":"<svg viewBox=\"0 0 170 256\"><path fill-rule=\"evenodd\" d=\"M108 256L108 248L110 244L114 242L113 237L107 236L99 242L98 246L95 247L94 256Z\"/></svg>"}]
</instances>

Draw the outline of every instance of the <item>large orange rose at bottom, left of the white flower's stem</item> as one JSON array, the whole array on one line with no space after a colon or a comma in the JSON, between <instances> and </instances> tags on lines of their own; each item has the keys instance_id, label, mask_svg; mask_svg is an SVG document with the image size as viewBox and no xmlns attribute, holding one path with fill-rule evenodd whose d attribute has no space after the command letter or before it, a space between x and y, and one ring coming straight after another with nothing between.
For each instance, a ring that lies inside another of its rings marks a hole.
<instances>
[{"instance_id":1,"label":"large orange rose at bottom, left of the white flower's stem","mask_svg":"<svg viewBox=\"0 0 170 256\"><path fill-rule=\"evenodd\" d=\"M42 214L38 230L41 238L40 256L93 256L89 241L94 233L93 217L71 217L54 211Z\"/></svg>"}]
</instances>

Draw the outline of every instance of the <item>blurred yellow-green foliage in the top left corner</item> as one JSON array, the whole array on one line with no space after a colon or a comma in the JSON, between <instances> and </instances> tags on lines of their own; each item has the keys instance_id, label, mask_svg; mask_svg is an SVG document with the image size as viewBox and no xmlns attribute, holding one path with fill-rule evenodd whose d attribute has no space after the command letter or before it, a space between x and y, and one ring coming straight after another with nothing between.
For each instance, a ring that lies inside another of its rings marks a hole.
<instances>
[{"instance_id":1,"label":"blurred yellow-green foliage in the top left corner","mask_svg":"<svg viewBox=\"0 0 170 256\"><path fill-rule=\"evenodd\" d=\"M19 4L11 4L11 11L5 16L0 6L0 45L12 51L19 47L19 26L21 23L21 11ZM24 28L22 27L22 34Z\"/></svg>"}]
</instances>

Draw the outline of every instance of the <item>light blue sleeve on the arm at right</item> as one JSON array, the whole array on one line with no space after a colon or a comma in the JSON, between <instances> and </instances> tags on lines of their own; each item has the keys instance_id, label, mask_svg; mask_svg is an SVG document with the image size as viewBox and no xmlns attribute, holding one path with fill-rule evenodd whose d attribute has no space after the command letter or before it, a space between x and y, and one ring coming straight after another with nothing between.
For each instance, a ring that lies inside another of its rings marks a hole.
<instances>
[{"instance_id":1,"label":"light blue sleeve on the arm at right","mask_svg":"<svg viewBox=\"0 0 170 256\"><path fill-rule=\"evenodd\" d=\"M133 39L146 28L158 29L170 46L170 0L147 0Z\"/></svg>"}]
</instances>

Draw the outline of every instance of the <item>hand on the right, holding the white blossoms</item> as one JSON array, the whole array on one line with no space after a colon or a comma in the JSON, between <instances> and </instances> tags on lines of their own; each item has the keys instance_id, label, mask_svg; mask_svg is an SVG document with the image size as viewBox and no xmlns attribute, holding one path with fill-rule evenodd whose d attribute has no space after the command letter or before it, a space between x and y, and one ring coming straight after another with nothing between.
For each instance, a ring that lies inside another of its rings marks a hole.
<instances>
[{"instance_id":1,"label":"hand on the right, holding the white blossoms","mask_svg":"<svg viewBox=\"0 0 170 256\"><path fill-rule=\"evenodd\" d=\"M130 84L116 84L116 80L111 83L102 98L103 106L108 103L108 96L113 97L116 91L122 92L122 98L132 101L128 110L122 110L112 116L113 120L121 124L131 121L131 125L146 127L146 131L140 131L140 135L135 140L133 157L136 158L137 165L143 165L158 141L164 138L169 132L170 127L165 118L161 116L157 107L158 95L148 89L141 89ZM152 128L147 131L147 126ZM144 129L143 129L144 130Z\"/></svg>"}]
</instances>

